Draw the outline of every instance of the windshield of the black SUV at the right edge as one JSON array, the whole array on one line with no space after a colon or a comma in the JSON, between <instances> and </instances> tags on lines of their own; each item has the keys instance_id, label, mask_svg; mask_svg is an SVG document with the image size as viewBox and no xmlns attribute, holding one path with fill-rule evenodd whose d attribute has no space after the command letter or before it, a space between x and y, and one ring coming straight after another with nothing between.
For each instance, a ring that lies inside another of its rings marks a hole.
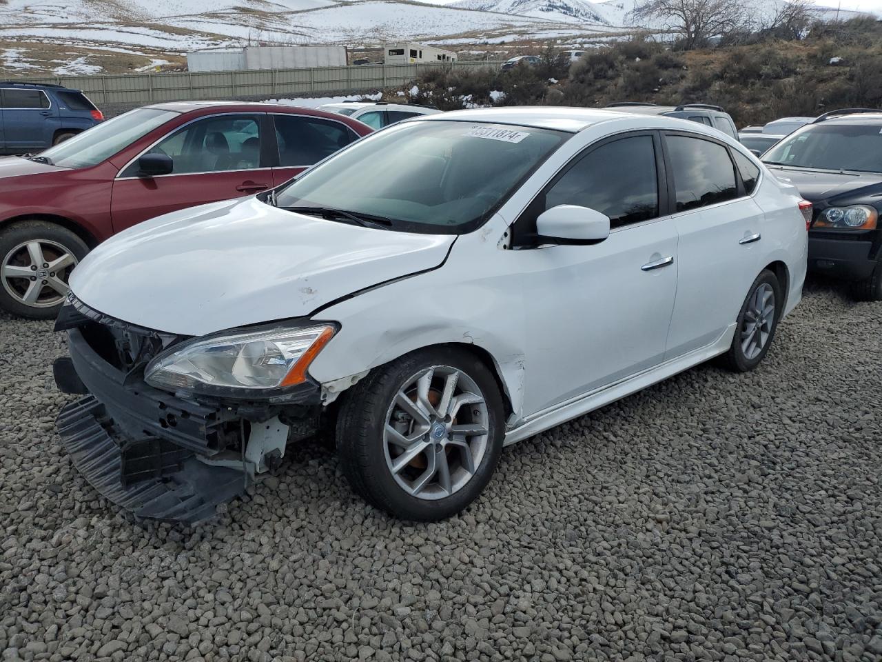
<instances>
[{"instance_id":1,"label":"windshield of the black SUV at the right edge","mask_svg":"<svg viewBox=\"0 0 882 662\"><path fill-rule=\"evenodd\" d=\"M882 172L880 130L879 124L811 124L769 149L763 161L795 168Z\"/></svg>"}]
</instances>

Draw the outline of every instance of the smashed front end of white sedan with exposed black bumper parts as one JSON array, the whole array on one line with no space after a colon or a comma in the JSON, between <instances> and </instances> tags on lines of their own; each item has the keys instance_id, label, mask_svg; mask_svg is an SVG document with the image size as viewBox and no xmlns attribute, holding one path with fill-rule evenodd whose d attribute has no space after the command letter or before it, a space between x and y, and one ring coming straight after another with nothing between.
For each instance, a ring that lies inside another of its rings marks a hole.
<instances>
[{"instance_id":1,"label":"smashed front end of white sedan with exposed black bumper parts","mask_svg":"<svg viewBox=\"0 0 882 662\"><path fill-rule=\"evenodd\" d=\"M166 390L145 370L191 338L110 318L72 295L56 331L71 353L56 359L56 384L83 395L59 414L58 433L88 482L135 515L204 521L318 429L321 388L305 368L281 388Z\"/></svg>"}]
</instances>

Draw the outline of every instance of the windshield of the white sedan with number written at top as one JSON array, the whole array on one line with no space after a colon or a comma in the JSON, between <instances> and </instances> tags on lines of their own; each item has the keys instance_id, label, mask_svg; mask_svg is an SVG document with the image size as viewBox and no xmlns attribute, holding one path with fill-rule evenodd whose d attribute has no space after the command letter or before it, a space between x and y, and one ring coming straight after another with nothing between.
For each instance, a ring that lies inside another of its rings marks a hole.
<instances>
[{"instance_id":1,"label":"windshield of the white sedan with number written at top","mask_svg":"<svg viewBox=\"0 0 882 662\"><path fill-rule=\"evenodd\" d=\"M568 137L503 124L398 124L308 170L275 201L380 217L392 229L463 234Z\"/></svg>"}]
</instances>

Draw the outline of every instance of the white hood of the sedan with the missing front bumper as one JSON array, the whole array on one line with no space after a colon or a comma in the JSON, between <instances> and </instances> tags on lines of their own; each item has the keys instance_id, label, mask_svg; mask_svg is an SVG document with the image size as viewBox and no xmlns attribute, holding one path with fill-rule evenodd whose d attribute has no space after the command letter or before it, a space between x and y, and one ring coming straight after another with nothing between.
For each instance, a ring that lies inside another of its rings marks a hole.
<instances>
[{"instance_id":1,"label":"white hood of the sedan with the missing front bumper","mask_svg":"<svg viewBox=\"0 0 882 662\"><path fill-rule=\"evenodd\" d=\"M111 237L73 270L71 290L118 320L205 335L307 316L357 290L437 267L455 238L325 221L255 198L226 200Z\"/></svg>"}]
</instances>

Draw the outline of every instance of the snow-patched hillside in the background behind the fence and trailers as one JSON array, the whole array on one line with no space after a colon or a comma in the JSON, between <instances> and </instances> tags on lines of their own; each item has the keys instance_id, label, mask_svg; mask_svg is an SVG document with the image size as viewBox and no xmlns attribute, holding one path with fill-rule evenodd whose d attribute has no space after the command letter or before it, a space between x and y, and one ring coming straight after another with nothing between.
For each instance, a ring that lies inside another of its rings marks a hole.
<instances>
[{"instance_id":1,"label":"snow-patched hillside in the background behind the fence and trailers","mask_svg":"<svg viewBox=\"0 0 882 662\"><path fill-rule=\"evenodd\" d=\"M758 12L781 3L744 1ZM505 55L548 40L584 47L638 29L659 30L657 21L635 12L638 6L639 0L5 0L0 75L181 66L187 51L249 40L359 48L413 40L471 45L475 55L494 44L505 44Z\"/></svg>"}]
</instances>

